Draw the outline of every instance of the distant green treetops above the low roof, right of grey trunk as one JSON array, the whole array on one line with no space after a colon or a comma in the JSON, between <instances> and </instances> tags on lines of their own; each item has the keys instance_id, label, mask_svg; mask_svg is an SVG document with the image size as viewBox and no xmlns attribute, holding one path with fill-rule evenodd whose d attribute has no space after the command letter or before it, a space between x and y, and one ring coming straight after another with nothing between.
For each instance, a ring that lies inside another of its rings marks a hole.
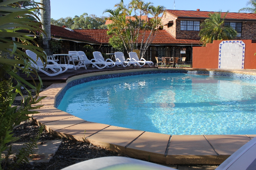
<instances>
[{"instance_id":1,"label":"distant green treetops above the low roof, right of grey trunk","mask_svg":"<svg viewBox=\"0 0 256 170\"><path fill-rule=\"evenodd\" d=\"M94 14L88 16L87 13L83 13L80 17L76 15L74 18L66 17L57 20L51 18L51 24L67 26L71 29L107 29L105 18L104 16L97 17Z\"/></svg>"}]
</instances>

